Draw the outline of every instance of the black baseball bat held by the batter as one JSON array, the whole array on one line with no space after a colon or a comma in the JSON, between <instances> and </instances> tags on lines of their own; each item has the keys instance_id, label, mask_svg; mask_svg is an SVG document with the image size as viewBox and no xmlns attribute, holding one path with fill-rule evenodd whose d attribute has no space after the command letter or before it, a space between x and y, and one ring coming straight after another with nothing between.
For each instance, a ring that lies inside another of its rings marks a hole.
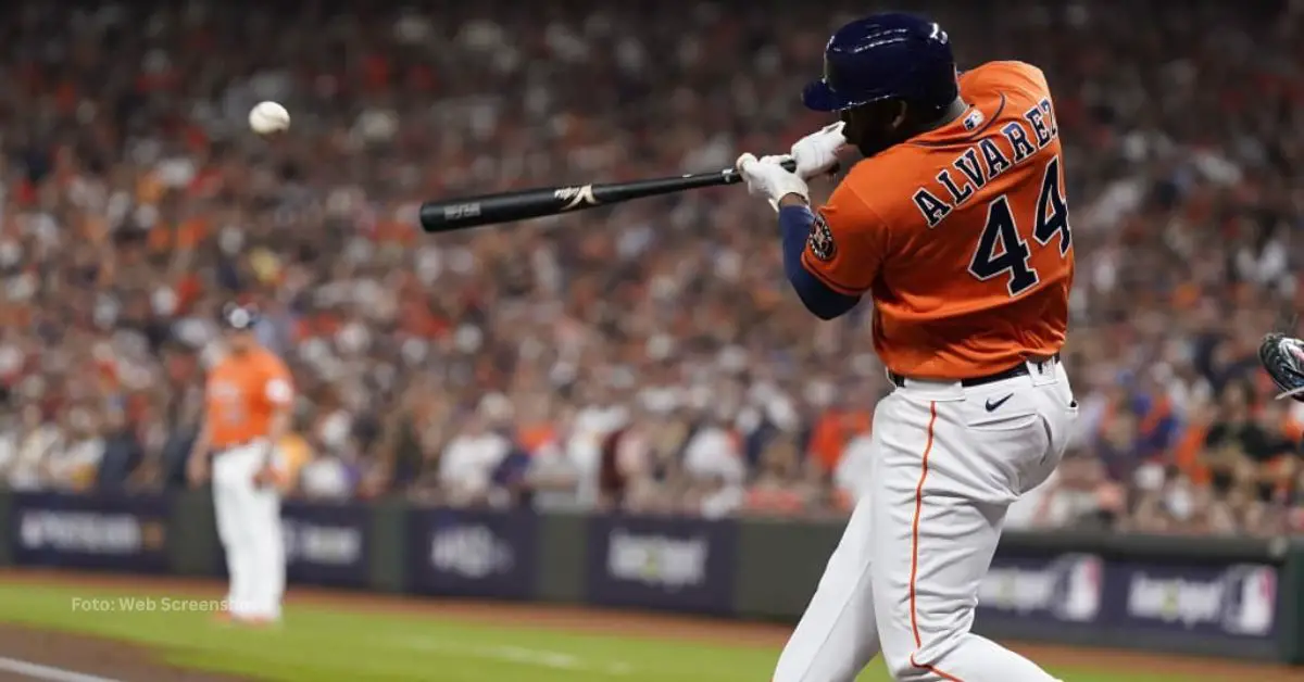
<instances>
[{"instance_id":1,"label":"black baseball bat held by the batter","mask_svg":"<svg viewBox=\"0 0 1304 682\"><path fill-rule=\"evenodd\" d=\"M784 162L789 171L797 168L792 159ZM428 201L421 205L421 230L451 232L493 223L528 220L545 215L610 206L643 197L670 194L703 186L733 185L742 181L735 168L713 173L689 173L631 183L549 186L520 192L498 192L479 197Z\"/></svg>"}]
</instances>

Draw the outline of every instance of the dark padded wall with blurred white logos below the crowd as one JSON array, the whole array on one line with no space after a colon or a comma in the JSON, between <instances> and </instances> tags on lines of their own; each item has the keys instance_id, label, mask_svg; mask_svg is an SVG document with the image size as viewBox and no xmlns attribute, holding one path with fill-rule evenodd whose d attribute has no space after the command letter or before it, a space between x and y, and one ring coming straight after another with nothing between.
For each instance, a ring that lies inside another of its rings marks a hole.
<instances>
[{"instance_id":1,"label":"dark padded wall with blurred white logos below the crowd","mask_svg":"<svg viewBox=\"0 0 1304 682\"><path fill-rule=\"evenodd\" d=\"M795 619L841 523L287 502L289 582ZM0 490L0 565L222 576L206 493ZM1304 542L1005 533L995 638L1304 662Z\"/></svg>"}]
</instances>

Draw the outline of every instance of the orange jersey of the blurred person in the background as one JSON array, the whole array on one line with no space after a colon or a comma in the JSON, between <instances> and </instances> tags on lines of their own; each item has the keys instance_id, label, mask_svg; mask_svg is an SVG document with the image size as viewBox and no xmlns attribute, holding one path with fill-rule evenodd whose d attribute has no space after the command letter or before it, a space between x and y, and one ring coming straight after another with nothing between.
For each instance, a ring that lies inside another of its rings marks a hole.
<instances>
[{"instance_id":1,"label":"orange jersey of the blurred person in the background","mask_svg":"<svg viewBox=\"0 0 1304 682\"><path fill-rule=\"evenodd\" d=\"M209 372L205 423L214 450L266 438L271 419L293 399L289 370L274 353L256 348L227 355Z\"/></svg>"}]
</instances>

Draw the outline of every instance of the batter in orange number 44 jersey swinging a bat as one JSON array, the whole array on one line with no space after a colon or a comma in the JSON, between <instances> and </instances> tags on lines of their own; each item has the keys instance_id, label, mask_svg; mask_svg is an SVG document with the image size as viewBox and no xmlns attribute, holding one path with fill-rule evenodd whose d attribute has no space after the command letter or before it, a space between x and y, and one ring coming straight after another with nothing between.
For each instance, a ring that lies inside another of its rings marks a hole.
<instances>
[{"instance_id":1,"label":"batter in orange number 44 jersey swinging a bat","mask_svg":"<svg viewBox=\"0 0 1304 682\"><path fill-rule=\"evenodd\" d=\"M1017 61L957 73L936 23L876 14L828 42L807 107L840 123L782 158L743 154L778 211L784 270L831 319L866 295L896 389L841 542L777 682L854 679L880 651L898 681L1050 682L970 632L1005 509L1059 463L1077 419L1059 363L1073 248L1055 108ZM865 156L818 210L807 180Z\"/></svg>"}]
</instances>

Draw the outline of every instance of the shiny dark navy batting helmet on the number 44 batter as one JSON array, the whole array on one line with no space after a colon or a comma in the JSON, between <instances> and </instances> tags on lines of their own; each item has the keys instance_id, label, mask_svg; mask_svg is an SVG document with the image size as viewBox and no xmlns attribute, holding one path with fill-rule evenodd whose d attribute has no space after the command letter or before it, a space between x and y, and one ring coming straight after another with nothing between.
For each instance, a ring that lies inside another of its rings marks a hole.
<instances>
[{"instance_id":1,"label":"shiny dark navy batting helmet on the number 44 batter","mask_svg":"<svg viewBox=\"0 0 1304 682\"><path fill-rule=\"evenodd\" d=\"M956 100L956 57L936 22L896 12L842 26L824 47L824 77L806 86L815 111L844 111L884 99L936 110Z\"/></svg>"}]
</instances>

